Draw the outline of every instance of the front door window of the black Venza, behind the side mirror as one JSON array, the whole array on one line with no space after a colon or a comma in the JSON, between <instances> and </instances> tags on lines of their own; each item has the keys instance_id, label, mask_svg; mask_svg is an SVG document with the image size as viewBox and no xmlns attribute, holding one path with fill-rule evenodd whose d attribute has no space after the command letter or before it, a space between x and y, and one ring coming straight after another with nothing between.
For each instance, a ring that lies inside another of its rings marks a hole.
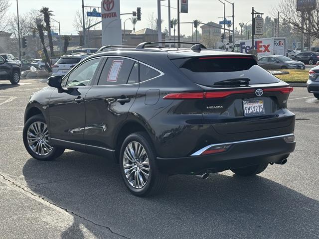
<instances>
[{"instance_id":1,"label":"front door window of the black Venza, behind the side mirror","mask_svg":"<svg viewBox=\"0 0 319 239\"><path fill-rule=\"evenodd\" d=\"M101 58L88 60L78 66L67 77L65 86L88 86L93 79L94 73L98 68Z\"/></svg>"}]
</instances>

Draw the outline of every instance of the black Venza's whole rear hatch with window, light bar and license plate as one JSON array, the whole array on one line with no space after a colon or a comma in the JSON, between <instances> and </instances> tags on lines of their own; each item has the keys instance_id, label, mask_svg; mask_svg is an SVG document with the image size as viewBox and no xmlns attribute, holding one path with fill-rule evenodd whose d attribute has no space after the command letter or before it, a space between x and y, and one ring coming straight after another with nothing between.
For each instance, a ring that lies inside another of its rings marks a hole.
<instances>
[{"instance_id":1,"label":"black Venza's whole rear hatch with window, light bar and license plate","mask_svg":"<svg viewBox=\"0 0 319 239\"><path fill-rule=\"evenodd\" d=\"M293 123L294 115L286 109L293 88L259 67L253 56L228 54L171 60L203 89L202 116L217 133L239 133L244 137L243 133Z\"/></svg>"}]
</instances>

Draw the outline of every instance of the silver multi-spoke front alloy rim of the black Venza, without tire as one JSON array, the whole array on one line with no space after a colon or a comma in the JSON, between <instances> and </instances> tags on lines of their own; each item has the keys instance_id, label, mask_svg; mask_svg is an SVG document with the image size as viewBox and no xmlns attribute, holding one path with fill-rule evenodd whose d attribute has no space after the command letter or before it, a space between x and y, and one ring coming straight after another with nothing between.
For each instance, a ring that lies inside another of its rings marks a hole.
<instances>
[{"instance_id":1,"label":"silver multi-spoke front alloy rim of the black Venza, without tire","mask_svg":"<svg viewBox=\"0 0 319 239\"><path fill-rule=\"evenodd\" d=\"M52 151L52 146L48 141L48 127L41 121L33 122L26 134L27 143L30 149L37 155L44 156Z\"/></svg>"}]
</instances>

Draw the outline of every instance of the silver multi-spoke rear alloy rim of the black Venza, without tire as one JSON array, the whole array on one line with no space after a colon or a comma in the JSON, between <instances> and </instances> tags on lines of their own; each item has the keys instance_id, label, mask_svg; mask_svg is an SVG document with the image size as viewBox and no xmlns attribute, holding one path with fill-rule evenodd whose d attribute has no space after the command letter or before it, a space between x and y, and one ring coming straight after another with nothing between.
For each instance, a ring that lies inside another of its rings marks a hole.
<instances>
[{"instance_id":1,"label":"silver multi-spoke rear alloy rim of the black Venza, without tire","mask_svg":"<svg viewBox=\"0 0 319 239\"><path fill-rule=\"evenodd\" d=\"M143 188L150 176L148 154L139 142L130 142L124 151L123 168L126 179L136 189Z\"/></svg>"}]
</instances>

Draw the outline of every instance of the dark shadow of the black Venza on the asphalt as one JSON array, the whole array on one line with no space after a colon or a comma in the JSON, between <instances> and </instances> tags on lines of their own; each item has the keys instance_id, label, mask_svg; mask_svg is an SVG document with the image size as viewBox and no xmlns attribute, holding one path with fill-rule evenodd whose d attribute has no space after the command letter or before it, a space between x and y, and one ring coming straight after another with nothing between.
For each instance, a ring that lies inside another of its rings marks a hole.
<instances>
[{"instance_id":1,"label":"dark shadow of the black Venza on the asphalt","mask_svg":"<svg viewBox=\"0 0 319 239\"><path fill-rule=\"evenodd\" d=\"M318 238L319 201L262 176L176 175L160 195L139 198L112 160L74 151L30 158L23 175L34 193L128 238Z\"/></svg>"}]
</instances>

